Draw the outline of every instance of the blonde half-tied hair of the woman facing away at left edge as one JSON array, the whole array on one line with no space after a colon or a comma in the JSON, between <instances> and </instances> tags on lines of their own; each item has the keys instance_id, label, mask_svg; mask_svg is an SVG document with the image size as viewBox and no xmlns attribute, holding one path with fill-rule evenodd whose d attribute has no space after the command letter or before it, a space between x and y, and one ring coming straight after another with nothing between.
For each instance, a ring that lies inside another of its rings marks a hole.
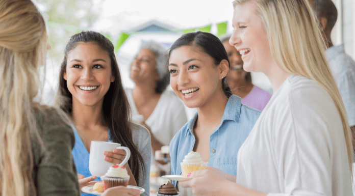
<instances>
[{"instance_id":1,"label":"blonde half-tied hair of the woman facing away at left edge","mask_svg":"<svg viewBox=\"0 0 355 196\"><path fill-rule=\"evenodd\" d=\"M39 138L33 98L45 64L43 17L30 1L0 1L0 195L36 195L31 138ZM34 137L35 136L35 137Z\"/></svg>"}]
</instances>

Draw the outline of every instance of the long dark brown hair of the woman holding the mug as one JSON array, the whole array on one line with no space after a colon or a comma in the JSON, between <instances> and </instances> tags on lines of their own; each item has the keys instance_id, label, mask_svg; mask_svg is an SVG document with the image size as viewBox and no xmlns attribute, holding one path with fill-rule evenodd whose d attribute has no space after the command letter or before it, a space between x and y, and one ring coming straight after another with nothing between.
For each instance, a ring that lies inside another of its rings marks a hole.
<instances>
[{"instance_id":1,"label":"long dark brown hair of the woman holding the mug","mask_svg":"<svg viewBox=\"0 0 355 196\"><path fill-rule=\"evenodd\" d=\"M67 82L63 78L63 75L67 66L68 53L77 47L80 42L94 42L109 54L111 71L112 75L115 77L115 81L111 82L110 88L104 97L102 110L104 125L108 126L110 129L112 142L120 143L122 146L128 147L131 150L131 158L128 163L137 184L143 184L143 182L139 182L139 176L146 175L146 168L144 167L142 155L133 143L129 122L130 106L122 86L121 75L114 53L114 46L107 37L92 31L81 32L71 36L65 47L64 59L61 64L57 102L61 109L63 109L68 115L71 115L72 95L68 90Z\"/></svg>"}]
</instances>

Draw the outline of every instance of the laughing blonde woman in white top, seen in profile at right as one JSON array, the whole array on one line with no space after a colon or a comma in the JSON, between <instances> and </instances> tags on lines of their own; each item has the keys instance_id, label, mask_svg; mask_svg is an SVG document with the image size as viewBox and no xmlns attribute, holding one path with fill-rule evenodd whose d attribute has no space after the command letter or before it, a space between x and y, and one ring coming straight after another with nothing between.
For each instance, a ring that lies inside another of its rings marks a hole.
<instances>
[{"instance_id":1,"label":"laughing blonde woman in white top, seen in profile at right","mask_svg":"<svg viewBox=\"0 0 355 196\"><path fill-rule=\"evenodd\" d=\"M196 195L352 195L350 127L308 1L233 5L230 43L274 94L238 152L236 182L207 167L180 185Z\"/></svg>"}]
</instances>

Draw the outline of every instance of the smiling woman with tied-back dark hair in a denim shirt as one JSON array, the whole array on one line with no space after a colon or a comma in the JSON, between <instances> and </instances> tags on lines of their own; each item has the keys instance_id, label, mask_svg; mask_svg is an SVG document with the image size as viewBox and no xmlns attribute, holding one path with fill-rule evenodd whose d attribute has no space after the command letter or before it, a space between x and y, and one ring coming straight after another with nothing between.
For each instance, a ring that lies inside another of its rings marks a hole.
<instances>
[{"instance_id":1,"label":"smiling woman with tied-back dark hair in a denim shirt","mask_svg":"<svg viewBox=\"0 0 355 196\"><path fill-rule=\"evenodd\" d=\"M229 67L223 44L210 33L185 34L171 46L170 85L187 107L197 108L170 143L172 175L181 174L180 162L193 150L208 162L207 170L221 170L235 182L238 150L261 111L232 95L225 82Z\"/></svg>"}]
</instances>

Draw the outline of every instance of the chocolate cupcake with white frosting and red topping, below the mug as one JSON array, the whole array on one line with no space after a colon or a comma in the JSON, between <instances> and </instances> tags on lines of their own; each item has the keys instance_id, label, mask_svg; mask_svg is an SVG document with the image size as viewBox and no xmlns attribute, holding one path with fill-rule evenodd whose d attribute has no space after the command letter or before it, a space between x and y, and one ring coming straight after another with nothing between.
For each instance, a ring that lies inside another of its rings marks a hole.
<instances>
[{"instance_id":1,"label":"chocolate cupcake with white frosting and red topping, below the mug","mask_svg":"<svg viewBox=\"0 0 355 196\"><path fill-rule=\"evenodd\" d=\"M127 186L130 180L130 175L128 175L125 167L119 166L118 164L110 166L107 173L101 177L104 183L105 190L114 186Z\"/></svg>"}]
</instances>

